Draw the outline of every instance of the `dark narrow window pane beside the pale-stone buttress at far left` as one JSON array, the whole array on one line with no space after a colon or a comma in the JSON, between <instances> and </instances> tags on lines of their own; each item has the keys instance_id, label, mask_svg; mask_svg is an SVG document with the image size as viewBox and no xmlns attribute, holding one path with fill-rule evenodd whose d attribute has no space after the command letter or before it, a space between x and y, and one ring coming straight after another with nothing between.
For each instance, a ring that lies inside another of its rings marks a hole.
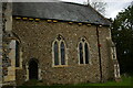
<instances>
[{"instance_id":1,"label":"dark narrow window pane beside the pale-stone buttress at far left","mask_svg":"<svg viewBox=\"0 0 133 88\"><path fill-rule=\"evenodd\" d=\"M20 66L20 45L19 42L16 41L16 67Z\"/></svg>"}]
</instances>

